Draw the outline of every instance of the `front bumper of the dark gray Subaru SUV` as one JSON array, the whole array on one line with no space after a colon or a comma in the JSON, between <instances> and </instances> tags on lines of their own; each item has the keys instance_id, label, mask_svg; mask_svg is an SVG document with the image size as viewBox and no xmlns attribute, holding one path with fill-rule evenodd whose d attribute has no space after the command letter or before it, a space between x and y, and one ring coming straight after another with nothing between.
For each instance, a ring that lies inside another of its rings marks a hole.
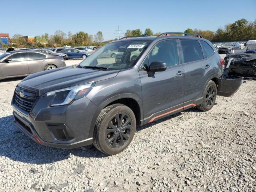
<instances>
[{"instance_id":1,"label":"front bumper of the dark gray Subaru SUV","mask_svg":"<svg viewBox=\"0 0 256 192\"><path fill-rule=\"evenodd\" d=\"M15 124L42 145L70 149L92 144L89 132L98 107L86 97L65 106L49 107L50 101L38 97L29 114L12 102Z\"/></svg>"}]
</instances>

